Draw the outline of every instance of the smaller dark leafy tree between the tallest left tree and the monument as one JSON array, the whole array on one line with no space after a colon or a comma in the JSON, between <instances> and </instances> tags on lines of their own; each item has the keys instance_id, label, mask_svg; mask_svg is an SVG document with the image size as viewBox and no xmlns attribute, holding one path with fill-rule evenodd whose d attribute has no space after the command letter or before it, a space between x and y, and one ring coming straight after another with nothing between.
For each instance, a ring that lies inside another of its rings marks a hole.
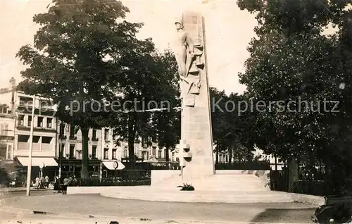
<instances>
[{"instance_id":1,"label":"smaller dark leafy tree between the tallest left tree and the monument","mask_svg":"<svg viewBox=\"0 0 352 224\"><path fill-rule=\"evenodd\" d=\"M170 51L156 51L151 39L138 46L139 51L127 52L129 60L122 64L125 76L115 97L117 101L136 103L126 104L126 113L112 114L109 119L118 140L127 140L132 165L134 142L139 138L166 148L175 147L180 138L180 115L172 109L179 105L175 56Z\"/></svg>"}]
</instances>

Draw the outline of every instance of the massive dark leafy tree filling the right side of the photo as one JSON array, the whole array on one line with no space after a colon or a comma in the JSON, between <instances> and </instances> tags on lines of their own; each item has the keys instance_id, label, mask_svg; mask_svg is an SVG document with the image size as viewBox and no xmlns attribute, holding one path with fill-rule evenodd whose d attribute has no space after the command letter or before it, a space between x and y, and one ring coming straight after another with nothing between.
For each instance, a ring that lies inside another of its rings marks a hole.
<instances>
[{"instance_id":1,"label":"massive dark leafy tree filling the right side of the photo","mask_svg":"<svg viewBox=\"0 0 352 224\"><path fill-rule=\"evenodd\" d=\"M351 158L349 3L238 1L258 20L258 38L251 40L251 56L239 75L254 103L265 101L250 135L265 153L307 164L321 159L335 174L350 169L341 165ZM337 25L339 32L324 35L328 24ZM339 108L330 101L339 101Z\"/></svg>"}]
</instances>

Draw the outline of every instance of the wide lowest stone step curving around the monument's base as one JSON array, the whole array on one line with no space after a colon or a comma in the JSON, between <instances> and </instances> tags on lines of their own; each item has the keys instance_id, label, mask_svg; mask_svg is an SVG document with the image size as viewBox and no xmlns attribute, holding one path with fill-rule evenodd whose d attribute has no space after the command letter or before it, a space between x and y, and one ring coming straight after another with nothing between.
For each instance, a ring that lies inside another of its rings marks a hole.
<instances>
[{"instance_id":1,"label":"wide lowest stone step curving around the monument's base","mask_svg":"<svg viewBox=\"0 0 352 224\"><path fill-rule=\"evenodd\" d=\"M206 203L289 203L291 196L284 192L267 190L245 191L224 189L180 191L180 189L160 189L158 187L121 187L101 192L103 197L137 199L144 201L177 201Z\"/></svg>"}]
</instances>

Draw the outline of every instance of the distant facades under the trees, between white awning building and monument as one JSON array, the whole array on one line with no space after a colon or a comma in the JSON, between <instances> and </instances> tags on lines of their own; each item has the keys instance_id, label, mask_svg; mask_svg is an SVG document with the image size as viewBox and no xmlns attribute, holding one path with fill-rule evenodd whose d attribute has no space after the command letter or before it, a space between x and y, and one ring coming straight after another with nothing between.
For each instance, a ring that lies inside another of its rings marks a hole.
<instances>
[{"instance_id":1,"label":"distant facades under the trees, between white awning building and monument","mask_svg":"<svg viewBox=\"0 0 352 224\"><path fill-rule=\"evenodd\" d=\"M61 163L61 172L63 175L79 175L82 169L82 133L72 125L59 123L57 141L56 161ZM142 144L142 139L134 143L134 155L137 157L137 162L149 162L153 161L153 158L157 161L166 161L165 156L168 153L172 154L170 149L168 151L159 149L155 143L147 147L146 144ZM105 178L115 172L115 162L118 162L116 170L125 168L122 162L129 160L128 143L117 144L111 127L91 129L88 134L88 154L89 175ZM175 156L172 158L176 160Z\"/></svg>"}]
</instances>

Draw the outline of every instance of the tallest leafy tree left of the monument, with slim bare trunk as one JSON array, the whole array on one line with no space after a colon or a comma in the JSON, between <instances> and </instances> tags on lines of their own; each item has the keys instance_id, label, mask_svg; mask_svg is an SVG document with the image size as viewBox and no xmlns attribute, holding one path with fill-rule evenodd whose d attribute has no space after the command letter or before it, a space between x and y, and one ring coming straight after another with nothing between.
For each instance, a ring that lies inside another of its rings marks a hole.
<instances>
[{"instance_id":1,"label":"tallest leafy tree left of the monument, with slim bare trunk","mask_svg":"<svg viewBox=\"0 0 352 224\"><path fill-rule=\"evenodd\" d=\"M48 12L34 15L42 26L34 46L22 46L17 54L29 66L19 88L53 99L56 116L82 132L82 178L88 175L89 128L106 126L111 113L101 104L123 85L122 66L136 61L134 52L152 47L149 40L137 40L142 24L125 21L128 12L120 1L54 0Z\"/></svg>"}]
</instances>

